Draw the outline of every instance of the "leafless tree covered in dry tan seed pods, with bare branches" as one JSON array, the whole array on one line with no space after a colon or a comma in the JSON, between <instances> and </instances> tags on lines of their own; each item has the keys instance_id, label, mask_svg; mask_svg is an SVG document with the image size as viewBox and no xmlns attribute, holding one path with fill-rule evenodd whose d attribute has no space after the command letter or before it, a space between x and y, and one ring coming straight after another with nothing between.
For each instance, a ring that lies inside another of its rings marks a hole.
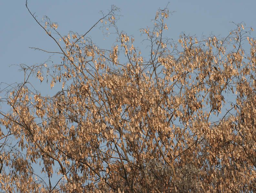
<instances>
[{"instance_id":1,"label":"leafless tree covered in dry tan seed pods, with bare branches","mask_svg":"<svg viewBox=\"0 0 256 193\"><path fill-rule=\"evenodd\" d=\"M165 8L142 29L150 50L143 55L118 31L114 6L83 35L62 36L49 18L42 24L28 12L57 44L62 63L22 66L24 82L7 91L11 109L0 112L3 192L256 190L252 28L240 23L226 38L200 41L182 34L175 43L163 36ZM116 31L112 49L87 37L98 24ZM50 87L62 82L62 90L42 96L32 75L52 77Z\"/></svg>"}]
</instances>

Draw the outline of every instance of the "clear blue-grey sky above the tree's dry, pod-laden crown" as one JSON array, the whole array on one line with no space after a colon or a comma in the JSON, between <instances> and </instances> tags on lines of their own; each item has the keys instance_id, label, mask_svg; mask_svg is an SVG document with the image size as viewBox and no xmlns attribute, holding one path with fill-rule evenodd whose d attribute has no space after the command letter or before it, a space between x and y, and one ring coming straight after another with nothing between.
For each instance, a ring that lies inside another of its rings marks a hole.
<instances>
[{"instance_id":1,"label":"clear blue-grey sky above the tree's dry, pod-laden crown","mask_svg":"<svg viewBox=\"0 0 256 193\"><path fill-rule=\"evenodd\" d=\"M157 9L165 7L167 3L160 0L28 0L31 11L39 19L47 15L57 22L63 35L69 31L86 32L101 16L100 10L107 12L111 5L116 5L122 15L118 22L119 30L134 35L135 41L140 38L139 29L152 25L150 20L155 17ZM198 37L202 34L209 36L210 33L224 37L235 28L230 22L245 22L247 27L256 29L255 7L255 0L170 0L169 11L175 13L167 21L169 30L166 36L174 41L178 40L181 32ZM0 82L21 82L23 74L10 65L33 65L47 60L49 54L29 47L48 51L57 51L57 47L29 15L25 0L1 0L0 18ZM98 45L111 48L98 28L89 35ZM255 36L255 31L251 35ZM137 46L140 42L141 39Z\"/></svg>"}]
</instances>

